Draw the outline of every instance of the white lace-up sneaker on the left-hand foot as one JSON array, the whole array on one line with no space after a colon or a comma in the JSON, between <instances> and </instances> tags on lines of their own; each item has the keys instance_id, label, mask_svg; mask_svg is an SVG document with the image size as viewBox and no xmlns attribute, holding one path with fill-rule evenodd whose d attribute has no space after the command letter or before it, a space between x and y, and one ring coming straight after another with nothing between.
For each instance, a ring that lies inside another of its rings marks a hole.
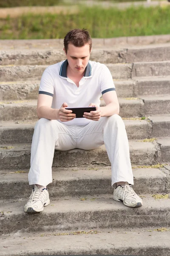
<instances>
[{"instance_id":1,"label":"white lace-up sneaker on the left-hand foot","mask_svg":"<svg viewBox=\"0 0 170 256\"><path fill-rule=\"evenodd\" d=\"M38 189L36 185L32 189L32 193L24 207L25 212L42 212L44 206L50 204L47 189Z\"/></svg>"}]
</instances>

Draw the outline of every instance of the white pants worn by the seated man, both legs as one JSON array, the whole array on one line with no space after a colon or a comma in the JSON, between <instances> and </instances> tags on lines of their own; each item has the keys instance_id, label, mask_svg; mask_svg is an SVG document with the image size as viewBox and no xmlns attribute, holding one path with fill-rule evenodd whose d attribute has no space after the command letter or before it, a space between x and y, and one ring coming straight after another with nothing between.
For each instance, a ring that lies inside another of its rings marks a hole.
<instances>
[{"instance_id":1,"label":"white pants worn by the seated man, both legs","mask_svg":"<svg viewBox=\"0 0 170 256\"><path fill-rule=\"evenodd\" d=\"M47 186L52 182L54 149L94 149L105 144L112 169L111 185L125 181L133 185L129 144L125 125L117 114L101 117L84 126L68 126L41 118L35 125L31 146L29 184Z\"/></svg>"}]
</instances>

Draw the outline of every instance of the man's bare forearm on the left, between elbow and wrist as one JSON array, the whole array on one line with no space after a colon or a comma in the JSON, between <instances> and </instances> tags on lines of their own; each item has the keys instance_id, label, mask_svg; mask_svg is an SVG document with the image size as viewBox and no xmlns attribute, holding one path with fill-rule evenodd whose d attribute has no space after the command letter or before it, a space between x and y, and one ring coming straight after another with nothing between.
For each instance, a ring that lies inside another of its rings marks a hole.
<instances>
[{"instance_id":1,"label":"man's bare forearm on the left, between elbow and wrist","mask_svg":"<svg viewBox=\"0 0 170 256\"><path fill-rule=\"evenodd\" d=\"M38 118L46 118L49 120L59 119L59 109L54 109L48 106L41 106L37 109Z\"/></svg>"}]
</instances>

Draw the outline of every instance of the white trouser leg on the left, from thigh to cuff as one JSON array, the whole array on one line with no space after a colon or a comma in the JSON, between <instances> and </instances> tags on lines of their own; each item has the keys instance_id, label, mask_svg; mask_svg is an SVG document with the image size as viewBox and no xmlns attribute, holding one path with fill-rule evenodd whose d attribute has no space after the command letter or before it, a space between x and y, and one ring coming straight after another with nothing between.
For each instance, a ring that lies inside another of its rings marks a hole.
<instances>
[{"instance_id":1,"label":"white trouser leg on the left, from thigh to cuff","mask_svg":"<svg viewBox=\"0 0 170 256\"><path fill-rule=\"evenodd\" d=\"M47 186L51 183L55 147L58 150L69 150L75 148L75 145L74 129L57 120L41 118L34 128L29 184Z\"/></svg>"}]
</instances>

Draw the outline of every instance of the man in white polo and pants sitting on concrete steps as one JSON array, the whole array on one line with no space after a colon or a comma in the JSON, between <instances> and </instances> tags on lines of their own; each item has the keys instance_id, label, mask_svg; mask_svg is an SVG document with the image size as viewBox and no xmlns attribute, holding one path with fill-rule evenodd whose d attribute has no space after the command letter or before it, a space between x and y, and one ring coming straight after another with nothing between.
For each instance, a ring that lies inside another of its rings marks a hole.
<instances>
[{"instance_id":1,"label":"man in white polo and pants sitting on concrete steps","mask_svg":"<svg viewBox=\"0 0 170 256\"><path fill-rule=\"evenodd\" d=\"M112 168L113 199L129 207L142 206L130 184L133 174L125 125L110 71L104 64L89 61L91 37L85 29L74 29L64 38L66 60L49 66L43 73L31 146L28 174L34 185L25 212L41 212L50 204L46 186L52 182L54 148L85 150L105 144ZM106 106L99 107L100 97ZM77 118L66 107L96 106L96 111Z\"/></svg>"}]
</instances>

